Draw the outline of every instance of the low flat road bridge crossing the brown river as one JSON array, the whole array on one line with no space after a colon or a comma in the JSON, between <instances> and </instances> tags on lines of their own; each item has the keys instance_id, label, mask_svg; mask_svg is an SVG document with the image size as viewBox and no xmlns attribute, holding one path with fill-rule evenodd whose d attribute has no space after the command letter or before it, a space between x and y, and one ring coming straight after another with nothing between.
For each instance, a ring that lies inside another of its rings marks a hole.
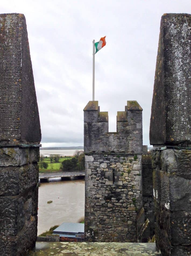
<instances>
[{"instance_id":1,"label":"low flat road bridge crossing the brown river","mask_svg":"<svg viewBox=\"0 0 191 256\"><path fill-rule=\"evenodd\" d=\"M73 171L73 172L40 172L39 179L41 182L49 182L50 178L59 178L63 180L67 177L80 177L85 176L85 171Z\"/></svg>"}]
</instances>

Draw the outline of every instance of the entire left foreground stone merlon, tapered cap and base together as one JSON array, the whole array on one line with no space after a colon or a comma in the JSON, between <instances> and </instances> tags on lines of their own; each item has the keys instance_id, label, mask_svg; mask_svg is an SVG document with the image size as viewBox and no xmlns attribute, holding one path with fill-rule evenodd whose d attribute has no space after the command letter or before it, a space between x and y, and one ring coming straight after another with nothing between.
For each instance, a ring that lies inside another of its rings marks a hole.
<instances>
[{"instance_id":1,"label":"entire left foreground stone merlon, tapered cap and base together","mask_svg":"<svg viewBox=\"0 0 191 256\"><path fill-rule=\"evenodd\" d=\"M26 255L37 237L41 140L26 21L0 15L0 251Z\"/></svg>"}]
</instances>

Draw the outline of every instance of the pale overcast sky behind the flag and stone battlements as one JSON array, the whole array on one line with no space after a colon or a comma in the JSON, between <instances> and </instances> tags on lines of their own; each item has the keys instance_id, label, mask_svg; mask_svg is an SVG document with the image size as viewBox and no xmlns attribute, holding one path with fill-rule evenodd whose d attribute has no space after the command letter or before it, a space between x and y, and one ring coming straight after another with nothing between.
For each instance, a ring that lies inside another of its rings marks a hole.
<instances>
[{"instance_id":1,"label":"pale overcast sky behind the flag and stone battlements","mask_svg":"<svg viewBox=\"0 0 191 256\"><path fill-rule=\"evenodd\" d=\"M117 111L136 100L143 108L143 145L149 145L161 16L190 13L190 0L6 0L0 10L26 18L42 146L83 146L92 41L105 35L106 46L95 55L95 100L108 111L111 132Z\"/></svg>"}]
</instances>

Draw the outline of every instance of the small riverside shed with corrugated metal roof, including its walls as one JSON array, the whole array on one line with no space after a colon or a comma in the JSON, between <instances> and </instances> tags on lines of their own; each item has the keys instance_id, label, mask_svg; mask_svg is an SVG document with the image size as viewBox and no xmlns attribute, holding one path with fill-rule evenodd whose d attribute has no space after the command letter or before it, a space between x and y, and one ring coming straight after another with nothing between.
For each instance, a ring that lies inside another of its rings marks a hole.
<instances>
[{"instance_id":1,"label":"small riverside shed with corrugated metal roof, including its walls","mask_svg":"<svg viewBox=\"0 0 191 256\"><path fill-rule=\"evenodd\" d=\"M76 238L77 241L84 241L84 223L63 222L53 230L53 234L60 237Z\"/></svg>"}]
</instances>

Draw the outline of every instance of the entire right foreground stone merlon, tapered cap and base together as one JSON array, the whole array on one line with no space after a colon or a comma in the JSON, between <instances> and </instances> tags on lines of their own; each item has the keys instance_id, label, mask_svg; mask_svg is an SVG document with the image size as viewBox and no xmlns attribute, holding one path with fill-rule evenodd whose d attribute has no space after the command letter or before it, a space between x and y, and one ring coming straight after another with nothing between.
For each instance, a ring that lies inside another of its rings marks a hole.
<instances>
[{"instance_id":1,"label":"entire right foreground stone merlon, tapered cap and base together","mask_svg":"<svg viewBox=\"0 0 191 256\"><path fill-rule=\"evenodd\" d=\"M190 14L162 16L150 123L162 255L191 254L190 32Z\"/></svg>"}]
</instances>

